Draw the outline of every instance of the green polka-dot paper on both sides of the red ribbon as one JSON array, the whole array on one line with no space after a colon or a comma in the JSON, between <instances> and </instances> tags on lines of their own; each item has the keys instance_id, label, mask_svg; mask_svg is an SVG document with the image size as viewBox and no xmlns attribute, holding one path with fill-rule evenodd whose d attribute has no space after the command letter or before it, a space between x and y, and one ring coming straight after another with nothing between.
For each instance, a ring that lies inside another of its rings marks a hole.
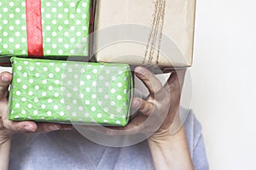
<instances>
[{"instance_id":1,"label":"green polka-dot paper on both sides of the red ribbon","mask_svg":"<svg viewBox=\"0 0 256 170\"><path fill-rule=\"evenodd\" d=\"M87 56L90 0L41 2L44 58ZM0 55L27 55L26 3L0 3Z\"/></svg>"}]
</instances>

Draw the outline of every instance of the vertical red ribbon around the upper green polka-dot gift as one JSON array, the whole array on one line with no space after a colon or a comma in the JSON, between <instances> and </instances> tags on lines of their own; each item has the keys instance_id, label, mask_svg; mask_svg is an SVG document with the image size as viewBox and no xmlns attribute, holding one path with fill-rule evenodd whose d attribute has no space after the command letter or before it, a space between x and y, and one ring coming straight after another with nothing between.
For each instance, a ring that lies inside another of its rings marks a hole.
<instances>
[{"instance_id":1,"label":"vertical red ribbon around the upper green polka-dot gift","mask_svg":"<svg viewBox=\"0 0 256 170\"><path fill-rule=\"evenodd\" d=\"M28 56L43 58L41 0L26 0L26 34Z\"/></svg>"}]
</instances>

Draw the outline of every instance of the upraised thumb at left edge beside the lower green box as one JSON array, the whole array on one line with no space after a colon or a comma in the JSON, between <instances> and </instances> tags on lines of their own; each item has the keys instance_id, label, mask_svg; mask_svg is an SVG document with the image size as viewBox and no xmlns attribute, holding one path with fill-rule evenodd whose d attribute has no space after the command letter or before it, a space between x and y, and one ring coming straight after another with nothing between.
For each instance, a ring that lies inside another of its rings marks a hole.
<instances>
[{"instance_id":1,"label":"upraised thumb at left edge beside the lower green box","mask_svg":"<svg viewBox=\"0 0 256 170\"><path fill-rule=\"evenodd\" d=\"M12 75L9 72L0 73L0 99L8 96L8 88L11 81Z\"/></svg>"}]
</instances>

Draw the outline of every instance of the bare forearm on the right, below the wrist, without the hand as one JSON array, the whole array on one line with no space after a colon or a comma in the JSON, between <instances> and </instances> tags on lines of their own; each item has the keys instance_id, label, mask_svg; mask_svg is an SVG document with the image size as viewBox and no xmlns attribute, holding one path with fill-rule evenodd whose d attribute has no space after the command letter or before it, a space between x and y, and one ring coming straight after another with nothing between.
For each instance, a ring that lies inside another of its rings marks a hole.
<instances>
[{"instance_id":1,"label":"bare forearm on the right, below the wrist, without the hand","mask_svg":"<svg viewBox=\"0 0 256 170\"><path fill-rule=\"evenodd\" d=\"M156 170L192 170L193 163L183 127L175 134L157 134L148 139Z\"/></svg>"}]
</instances>

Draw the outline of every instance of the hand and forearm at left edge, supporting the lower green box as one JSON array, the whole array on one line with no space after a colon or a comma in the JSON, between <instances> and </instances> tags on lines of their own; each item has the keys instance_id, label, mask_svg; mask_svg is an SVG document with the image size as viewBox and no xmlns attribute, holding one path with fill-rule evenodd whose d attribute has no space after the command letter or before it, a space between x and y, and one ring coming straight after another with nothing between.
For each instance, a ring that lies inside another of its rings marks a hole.
<instances>
[{"instance_id":1,"label":"hand and forearm at left edge, supporting the lower green box","mask_svg":"<svg viewBox=\"0 0 256 170\"><path fill-rule=\"evenodd\" d=\"M9 153L11 136L14 133L40 133L60 129L70 129L69 125L56 123L36 123L31 121L13 122L8 119L9 111L9 83L12 75L9 72L0 74L0 169L7 170L9 167Z\"/></svg>"}]
</instances>

